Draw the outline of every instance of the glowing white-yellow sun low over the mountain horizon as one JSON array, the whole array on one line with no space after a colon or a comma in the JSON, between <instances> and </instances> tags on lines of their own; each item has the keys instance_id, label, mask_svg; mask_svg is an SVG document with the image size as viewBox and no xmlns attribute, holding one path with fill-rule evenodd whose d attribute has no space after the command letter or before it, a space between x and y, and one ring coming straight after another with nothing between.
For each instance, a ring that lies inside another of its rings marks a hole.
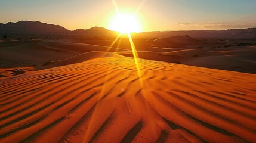
<instances>
[{"instance_id":1,"label":"glowing white-yellow sun low over the mountain horizon","mask_svg":"<svg viewBox=\"0 0 256 143\"><path fill-rule=\"evenodd\" d=\"M129 14L118 14L114 17L110 29L121 33L141 32L137 18Z\"/></svg>"}]
</instances>

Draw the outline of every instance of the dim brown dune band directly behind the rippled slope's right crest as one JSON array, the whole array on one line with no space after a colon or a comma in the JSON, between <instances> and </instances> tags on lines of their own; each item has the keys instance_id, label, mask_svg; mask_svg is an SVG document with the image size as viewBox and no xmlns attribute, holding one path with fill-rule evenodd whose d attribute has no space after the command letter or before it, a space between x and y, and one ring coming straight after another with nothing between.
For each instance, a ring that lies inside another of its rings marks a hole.
<instances>
[{"instance_id":1,"label":"dim brown dune band directly behind the rippled slope's right crest","mask_svg":"<svg viewBox=\"0 0 256 143\"><path fill-rule=\"evenodd\" d=\"M256 73L255 48L235 49L229 51L205 51L202 49L182 49L169 52L138 51L140 58L187 64L190 66L212 69ZM132 57L131 51L117 54Z\"/></svg>"}]
</instances>

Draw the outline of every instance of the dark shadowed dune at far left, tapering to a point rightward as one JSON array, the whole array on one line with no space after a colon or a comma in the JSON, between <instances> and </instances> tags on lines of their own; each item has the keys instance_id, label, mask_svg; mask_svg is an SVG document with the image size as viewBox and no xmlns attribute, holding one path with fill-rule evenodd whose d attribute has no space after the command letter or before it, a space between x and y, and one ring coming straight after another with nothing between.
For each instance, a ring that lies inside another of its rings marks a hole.
<instances>
[{"instance_id":1,"label":"dark shadowed dune at far left, tapering to a point rightward","mask_svg":"<svg viewBox=\"0 0 256 143\"><path fill-rule=\"evenodd\" d=\"M1 45L4 45L4 47L0 48L1 67L36 66L47 61L61 60L80 54L74 51L47 48L33 41L1 43Z\"/></svg>"}]
</instances>

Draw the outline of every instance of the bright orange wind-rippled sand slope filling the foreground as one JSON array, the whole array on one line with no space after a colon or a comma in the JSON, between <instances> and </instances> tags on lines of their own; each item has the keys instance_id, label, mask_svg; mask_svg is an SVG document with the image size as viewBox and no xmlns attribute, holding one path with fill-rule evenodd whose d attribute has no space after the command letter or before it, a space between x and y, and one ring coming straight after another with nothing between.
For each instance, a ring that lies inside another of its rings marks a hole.
<instances>
[{"instance_id":1,"label":"bright orange wind-rippled sand slope filling the foreground","mask_svg":"<svg viewBox=\"0 0 256 143\"><path fill-rule=\"evenodd\" d=\"M0 142L255 142L256 75L97 58L0 81Z\"/></svg>"}]
</instances>

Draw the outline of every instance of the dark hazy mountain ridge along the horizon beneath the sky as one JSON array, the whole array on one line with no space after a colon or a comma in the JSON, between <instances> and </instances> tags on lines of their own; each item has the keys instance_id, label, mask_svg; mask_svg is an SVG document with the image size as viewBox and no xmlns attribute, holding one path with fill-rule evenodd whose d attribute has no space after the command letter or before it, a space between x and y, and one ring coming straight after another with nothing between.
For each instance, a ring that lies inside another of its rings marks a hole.
<instances>
[{"instance_id":1,"label":"dark hazy mountain ridge along the horizon beneath the sky","mask_svg":"<svg viewBox=\"0 0 256 143\"><path fill-rule=\"evenodd\" d=\"M118 32L103 27L90 29L68 30L62 26L42 23L39 21L19 21L17 23L0 23L0 34L60 34L60 35L83 35L83 36L116 36ZM256 28L229 29L229 30L187 30L187 31L164 31L164 32L141 32L133 36L147 38L167 38L171 36L189 35L201 38L256 38Z\"/></svg>"}]
</instances>

